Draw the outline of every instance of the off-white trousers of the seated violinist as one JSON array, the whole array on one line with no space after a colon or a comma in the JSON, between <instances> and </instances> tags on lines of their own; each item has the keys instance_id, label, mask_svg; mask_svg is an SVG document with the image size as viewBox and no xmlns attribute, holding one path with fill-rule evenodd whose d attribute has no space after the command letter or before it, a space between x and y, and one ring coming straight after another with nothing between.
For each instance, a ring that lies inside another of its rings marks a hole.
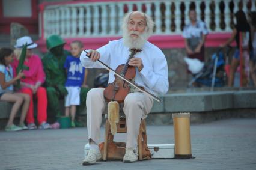
<instances>
[{"instance_id":1,"label":"off-white trousers of the seated violinist","mask_svg":"<svg viewBox=\"0 0 256 170\"><path fill-rule=\"evenodd\" d=\"M87 93L87 129L88 139L99 143L102 113L105 111L104 88L92 88ZM126 147L136 148L139 126L142 118L146 118L153 106L153 99L141 92L129 93L124 100L127 134Z\"/></svg>"}]
</instances>

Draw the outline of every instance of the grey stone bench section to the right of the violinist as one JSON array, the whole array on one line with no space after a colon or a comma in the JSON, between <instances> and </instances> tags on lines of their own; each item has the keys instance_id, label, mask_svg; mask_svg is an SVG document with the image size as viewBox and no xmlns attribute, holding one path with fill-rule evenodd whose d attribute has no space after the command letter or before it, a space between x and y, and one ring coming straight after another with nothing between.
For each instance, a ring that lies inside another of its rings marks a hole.
<instances>
[{"instance_id":1,"label":"grey stone bench section to the right of the violinist","mask_svg":"<svg viewBox=\"0 0 256 170\"><path fill-rule=\"evenodd\" d=\"M170 93L154 102L149 124L172 124L172 113L190 112L191 123L231 117L256 118L256 90Z\"/></svg>"}]
</instances>

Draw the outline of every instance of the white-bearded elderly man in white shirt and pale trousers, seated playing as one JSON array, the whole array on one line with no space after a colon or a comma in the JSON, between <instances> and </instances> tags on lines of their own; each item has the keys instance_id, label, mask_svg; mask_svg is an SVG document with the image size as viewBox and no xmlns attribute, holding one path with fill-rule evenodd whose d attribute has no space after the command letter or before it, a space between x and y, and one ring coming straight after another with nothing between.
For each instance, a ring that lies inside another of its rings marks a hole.
<instances>
[{"instance_id":1,"label":"white-bearded elderly man in white shirt and pale trousers, seated playing","mask_svg":"<svg viewBox=\"0 0 256 170\"><path fill-rule=\"evenodd\" d=\"M146 118L150 113L153 106L151 96L165 94L169 88L165 55L158 47L147 41L153 33L153 26L153 20L147 14L139 11L130 12L123 19L123 38L109 41L97 50L84 50L80 56L82 65L86 68L106 68L101 65L103 62L113 70L121 64L127 64L135 69L136 75L133 82L140 89L130 91L123 100L123 111L127 123L126 153L123 162L138 160L137 139L141 119ZM109 83L114 81L115 73L111 71ZM142 93L141 89L152 95ZM99 142L102 112L107 103L104 91L104 88L93 88L87 94L87 128L90 150L83 165L92 165L101 159L97 142Z\"/></svg>"}]
</instances>

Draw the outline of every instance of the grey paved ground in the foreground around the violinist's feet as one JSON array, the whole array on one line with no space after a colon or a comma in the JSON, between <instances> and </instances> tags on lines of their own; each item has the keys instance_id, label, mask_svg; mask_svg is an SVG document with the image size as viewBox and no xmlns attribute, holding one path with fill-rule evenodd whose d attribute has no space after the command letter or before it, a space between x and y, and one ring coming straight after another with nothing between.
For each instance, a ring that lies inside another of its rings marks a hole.
<instances>
[{"instance_id":1,"label":"grey paved ground in the foreground around the violinist's feet","mask_svg":"<svg viewBox=\"0 0 256 170\"><path fill-rule=\"evenodd\" d=\"M148 144L173 144L173 133L172 126L147 126ZM86 128L1 131L0 169L256 169L256 119L194 124L191 137L194 159L82 166ZM115 140L122 138L124 134Z\"/></svg>"}]
</instances>

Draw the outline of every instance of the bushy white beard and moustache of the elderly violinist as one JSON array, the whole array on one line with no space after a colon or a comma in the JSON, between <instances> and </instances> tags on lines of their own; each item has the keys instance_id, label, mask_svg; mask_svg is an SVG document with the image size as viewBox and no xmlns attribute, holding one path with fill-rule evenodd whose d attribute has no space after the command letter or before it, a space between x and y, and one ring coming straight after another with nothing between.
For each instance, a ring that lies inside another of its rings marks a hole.
<instances>
[{"instance_id":1,"label":"bushy white beard and moustache of the elderly violinist","mask_svg":"<svg viewBox=\"0 0 256 170\"><path fill-rule=\"evenodd\" d=\"M138 37L132 37L131 34L136 34ZM144 31L142 34L139 34L135 31L128 32L126 29L123 33L124 46L127 46L130 49L142 49L148 37L149 35L146 31Z\"/></svg>"}]
</instances>

